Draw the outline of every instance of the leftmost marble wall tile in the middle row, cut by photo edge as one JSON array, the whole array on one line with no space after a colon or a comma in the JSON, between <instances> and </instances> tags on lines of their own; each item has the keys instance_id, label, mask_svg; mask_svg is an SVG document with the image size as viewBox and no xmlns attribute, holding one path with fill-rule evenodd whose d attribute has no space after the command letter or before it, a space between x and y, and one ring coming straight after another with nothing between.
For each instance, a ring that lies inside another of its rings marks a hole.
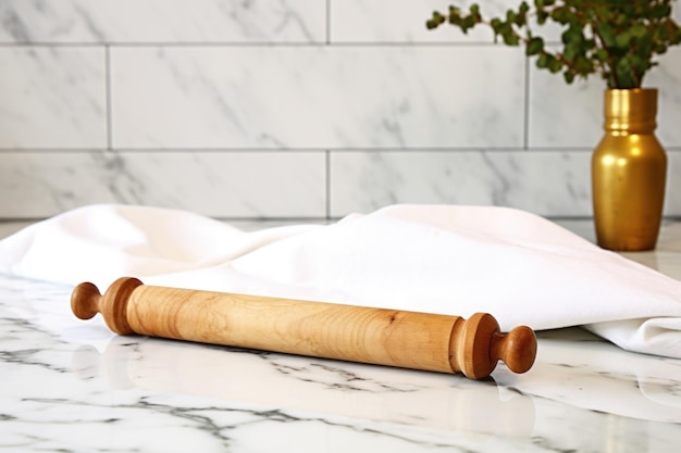
<instances>
[{"instance_id":1,"label":"leftmost marble wall tile in the middle row, cut by photo edge","mask_svg":"<svg viewBox=\"0 0 681 453\"><path fill-rule=\"evenodd\" d=\"M0 148L107 146L100 48L0 47Z\"/></svg>"}]
</instances>

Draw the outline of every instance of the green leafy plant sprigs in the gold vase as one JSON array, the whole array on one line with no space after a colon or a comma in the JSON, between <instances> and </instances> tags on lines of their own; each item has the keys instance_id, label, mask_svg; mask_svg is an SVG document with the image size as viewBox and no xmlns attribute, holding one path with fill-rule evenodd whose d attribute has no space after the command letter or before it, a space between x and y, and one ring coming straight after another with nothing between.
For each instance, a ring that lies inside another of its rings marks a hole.
<instances>
[{"instance_id":1,"label":"green leafy plant sprigs in the gold vase","mask_svg":"<svg viewBox=\"0 0 681 453\"><path fill-rule=\"evenodd\" d=\"M670 17L674 0L533 0L508 10L505 17L485 20L480 7L468 12L449 7L435 11L426 22L433 29L448 23L465 34L479 24L508 46L524 45L540 68L562 73L571 84L577 77L599 74L608 88L640 88L643 76L657 65L655 55L681 42L681 29ZM532 27L547 22L562 27L561 48L547 45Z\"/></svg>"}]
</instances>

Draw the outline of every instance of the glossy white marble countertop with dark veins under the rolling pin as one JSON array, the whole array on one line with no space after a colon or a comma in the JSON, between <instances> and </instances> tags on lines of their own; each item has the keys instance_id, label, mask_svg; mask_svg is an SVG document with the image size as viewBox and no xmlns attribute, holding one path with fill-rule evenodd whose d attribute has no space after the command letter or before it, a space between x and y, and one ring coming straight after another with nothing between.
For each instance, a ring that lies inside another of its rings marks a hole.
<instances>
[{"instance_id":1,"label":"glossy white marble countertop with dark veins under the rolling pin","mask_svg":"<svg viewBox=\"0 0 681 453\"><path fill-rule=\"evenodd\" d=\"M574 230L584 223L567 225ZM628 254L681 279L681 223ZM71 287L0 275L3 452L678 452L681 360L580 328L460 375L111 334Z\"/></svg>"}]
</instances>

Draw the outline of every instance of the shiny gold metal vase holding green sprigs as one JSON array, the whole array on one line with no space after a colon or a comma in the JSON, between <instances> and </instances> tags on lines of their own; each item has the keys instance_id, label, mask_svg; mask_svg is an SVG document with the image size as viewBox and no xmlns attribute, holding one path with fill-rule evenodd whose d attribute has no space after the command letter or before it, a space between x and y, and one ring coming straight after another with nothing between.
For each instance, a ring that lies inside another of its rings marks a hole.
<instances>
[{"instance_id":1,"label":"shiny gold metal vase holding green sprigs","mask_svg":"<svg viewBox=\"0 0 681 453\"><path fill-rule=\"evenodd\" d=\"M667 175L667 154L654 134L657 90L608 89L604 106L605 136L592 155L598 246L616 251L654 249Z\"/></svg>"}]
</instances>

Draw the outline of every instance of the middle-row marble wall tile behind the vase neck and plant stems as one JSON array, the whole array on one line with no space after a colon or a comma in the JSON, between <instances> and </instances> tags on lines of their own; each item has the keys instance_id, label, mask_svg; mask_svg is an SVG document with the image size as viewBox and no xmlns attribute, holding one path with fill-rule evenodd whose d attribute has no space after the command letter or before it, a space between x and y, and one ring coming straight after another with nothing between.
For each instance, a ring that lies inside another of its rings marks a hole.
<instances>
[{"instance_id":1,"label":"middle-row marble wall tile behind the vase neck and plant stems","mask_svg":"<svg viewBox=\"0 0 681 453\"><path fill-rule=\"evenodd\" d=\"M665 147L681 146L681 48L659 58L644 79L644 87L657 88L658 127ZM567 85L561 75L530 71L530 148L596 147L603 137L603 98L606 84L598 76Z\"/></svg>"}]
</instances>

